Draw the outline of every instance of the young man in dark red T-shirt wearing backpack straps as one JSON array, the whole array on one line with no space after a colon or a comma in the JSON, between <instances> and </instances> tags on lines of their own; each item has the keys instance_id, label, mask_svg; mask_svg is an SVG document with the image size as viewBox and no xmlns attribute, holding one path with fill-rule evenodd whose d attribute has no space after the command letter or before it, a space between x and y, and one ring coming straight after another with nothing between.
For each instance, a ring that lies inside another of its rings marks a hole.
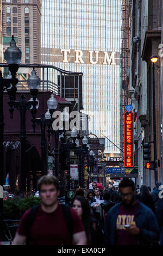
<instances>
[{"instance_id":1,"label":"young man in dark red T-shirt wearing backpack straps","mask_svg":"<svg viewBox=\"0 0 163 256\"><path fill-rule=\"evenodd\" d=\"M86 245L82 221L68 205L58 203L57 178L42 176L38 190L41 204L24 213L12 245Z\"/></svg>"}]
</instances>

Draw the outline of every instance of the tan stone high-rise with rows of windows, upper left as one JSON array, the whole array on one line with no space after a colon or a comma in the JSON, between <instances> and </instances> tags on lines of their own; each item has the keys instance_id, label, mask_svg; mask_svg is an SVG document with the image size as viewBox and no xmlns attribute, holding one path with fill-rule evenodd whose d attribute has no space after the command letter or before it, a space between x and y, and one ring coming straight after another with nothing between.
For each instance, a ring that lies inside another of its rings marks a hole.
<instances>
[{"instance_id":1,"label":"tan stone high-rise with rows of windows, upper left","mask_svg":"<svg viewBox=\"0 0 163 256\"><path fill-rule=\"evenodd\" d=\"M2 0L3 45L11 36L22 51L21 63L41 63L40 0Z\"/></svg>"}]
</instances>

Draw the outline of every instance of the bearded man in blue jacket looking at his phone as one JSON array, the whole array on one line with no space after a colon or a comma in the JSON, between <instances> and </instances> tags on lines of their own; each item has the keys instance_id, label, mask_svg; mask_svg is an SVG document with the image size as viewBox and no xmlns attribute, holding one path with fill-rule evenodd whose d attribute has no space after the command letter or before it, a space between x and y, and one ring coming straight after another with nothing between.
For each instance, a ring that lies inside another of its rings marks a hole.
<instances>
[{"instance_id":1,"label":"bearded man in blue jacket looking at his phone","mask_svg":"<svg viewBox=\"0 0 163 256\"><path fill-rule=\"evenodd\" d=\"M135 184L123 179L120 183L122 202L113 206L105 218L107 245L151 245L158 242L156 217L146 205L135 198Z\"/></svg>"}]
</instances>

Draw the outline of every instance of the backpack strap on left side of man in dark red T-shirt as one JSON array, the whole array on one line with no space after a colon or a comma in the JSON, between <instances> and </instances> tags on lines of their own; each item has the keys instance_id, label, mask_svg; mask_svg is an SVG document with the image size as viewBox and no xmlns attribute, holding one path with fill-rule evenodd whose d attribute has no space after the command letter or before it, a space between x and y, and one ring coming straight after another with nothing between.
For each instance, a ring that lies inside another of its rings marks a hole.
<instances>
[{"instance_id":1,"label":"backpack strap on left side of man in dark red T-shirt","mask_svg":"<svg viewBox=\"0 0 163 256\"><path fill-rule=\"evenodd\" d=\"M29 240L30 240L30 230L32 228L32 225L34 223L36 214L37 214L37 210L39 209L40 204L36 204L34 205L30 211L29 214L27 216L26 219L26 230L27 230L27 240L26 240L26 245L29 245Z\"/></svg>"}]
</instances>

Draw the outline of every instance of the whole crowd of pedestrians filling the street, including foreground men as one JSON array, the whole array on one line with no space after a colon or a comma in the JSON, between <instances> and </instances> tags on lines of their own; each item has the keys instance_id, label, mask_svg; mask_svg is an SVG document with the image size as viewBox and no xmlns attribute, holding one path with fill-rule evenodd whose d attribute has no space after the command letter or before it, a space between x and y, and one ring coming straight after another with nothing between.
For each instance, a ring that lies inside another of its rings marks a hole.
<instances>
[{"instance_id":1,"label":"whole crowd of pedestrians filling the street, including foreground men","mask_svg":"<svg viewBox=\"0 0 163 256\"><path fill-rule=\"evenodd\" d=\"M41 204L22 216L12 245L163 245L163 199L155 190L123 179L99 190L78 188L71 205L58 202L55 176L38 182Z\"/></svg>"}]
</instances>

